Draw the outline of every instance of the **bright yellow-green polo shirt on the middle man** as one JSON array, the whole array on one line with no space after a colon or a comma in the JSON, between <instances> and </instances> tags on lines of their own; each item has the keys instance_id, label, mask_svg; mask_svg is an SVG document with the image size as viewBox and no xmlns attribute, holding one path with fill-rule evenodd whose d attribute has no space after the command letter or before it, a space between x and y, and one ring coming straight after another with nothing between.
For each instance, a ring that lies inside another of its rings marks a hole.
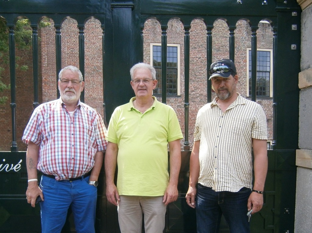
<instances>
[{"instance_id":1,"label":"bright yellow-green polo shirt on the middle man","mask_svg":"<svg viewBox=\"0 0 312 233\"><path fill-rule=\"evenodd\" d=\"M183 135L173 108L153 98L144 114L133 97L110 118L107 140L118 145L119 195L162 196L168 186L168 142Z\"/></svg>"}]
</instances>

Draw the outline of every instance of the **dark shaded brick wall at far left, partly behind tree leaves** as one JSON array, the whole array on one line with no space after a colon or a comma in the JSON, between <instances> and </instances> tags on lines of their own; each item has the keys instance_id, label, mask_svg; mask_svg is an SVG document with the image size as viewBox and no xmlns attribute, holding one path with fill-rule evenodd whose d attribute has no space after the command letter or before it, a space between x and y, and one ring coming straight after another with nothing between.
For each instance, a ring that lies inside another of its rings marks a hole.
<instances>
[{"instance_id":1,"label":"dark shaded brick wall at far left, partly behind tree leaves","mask_svg":"<svg viewBox=\"0 0 312 233\"><path fill-rule=\"evenodd\" d=\"M40 36L40 35L39 35ZM39 40L40 44L40 40ZM17 47L17 46L16 46ZM41 46L39 46L39 60L41 58ZM16 141L19 150L26 150L22 143L22 134L33 110L34 91L33 91L33 69L32 69L32 49L19 51L16 49L16 63L19 65L27 65L27 71L16 69ZM3 64L2 81L5 84L10 84L10 70L8 64ZM41 63L39 62L39 102L42 102L41 88ZM0 106L0 151L10 151L12 145L12 114L10 103L11 91L6 90L0 93L2 96L7 96L8 100L4 105Z\"/></svg>"}]
</instances>

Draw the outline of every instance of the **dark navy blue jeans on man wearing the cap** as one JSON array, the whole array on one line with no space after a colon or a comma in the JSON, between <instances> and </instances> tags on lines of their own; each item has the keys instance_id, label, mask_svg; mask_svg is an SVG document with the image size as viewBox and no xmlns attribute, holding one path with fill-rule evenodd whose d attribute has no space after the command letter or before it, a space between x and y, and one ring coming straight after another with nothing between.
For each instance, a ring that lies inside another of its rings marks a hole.
<instances>
[{"instance_id":1,"label":"dark navy blue jeans on man wearing the cap","mask_svg":"<svg viewBox=\"0 0 312 233\"><path fill-rule=\"evenodd\" d=\"M212 188L197 185L196 221L197 233L217 233L222 214L231 233L249 233L247 202L250 188L241 188L237 193L215 192Z\"/></svg>"}]
</instances>

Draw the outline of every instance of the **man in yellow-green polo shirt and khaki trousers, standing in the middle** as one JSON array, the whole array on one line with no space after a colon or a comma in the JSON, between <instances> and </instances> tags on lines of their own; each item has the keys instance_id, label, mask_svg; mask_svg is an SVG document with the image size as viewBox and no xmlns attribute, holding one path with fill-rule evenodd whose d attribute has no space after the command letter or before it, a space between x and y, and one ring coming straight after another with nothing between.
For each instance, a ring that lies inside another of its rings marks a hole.
<instances>
[{"instance_id":1,"label":"man in yellow-green polo shirt and khaki trousers, standing in the middle","mask_svg":"<svg viewBox=\"0 0 312 233\"><path fill-rule=\"evenodd\" d=\"M115 109L108 126L106 197L118 206L122 233L141 233L142 213L145 232L162 233L166 205L178 198L183 135L173 108L152 96L157 84L154 67L138 63L130 75L135 97Z\"/></svg>"}]
</instances>

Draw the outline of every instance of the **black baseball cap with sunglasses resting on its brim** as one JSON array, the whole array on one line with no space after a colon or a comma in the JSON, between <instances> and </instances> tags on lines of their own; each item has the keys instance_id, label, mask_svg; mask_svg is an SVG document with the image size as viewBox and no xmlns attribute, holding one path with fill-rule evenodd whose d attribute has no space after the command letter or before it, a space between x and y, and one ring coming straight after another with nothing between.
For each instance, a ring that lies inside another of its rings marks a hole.
<instances>
[{"instance_id":1,"label":"black baseball cap with sunglasses resting on its brim","mask_svg":"<svg viewBox=\"0 0 312 233\"><path fill-rule=\"evenodd\" d=\"M209 80L216 76L228 78L232 73L236 74L236 67L234 62L232 62L230 59L222 59L211 64L209 70Z\"/></svg>"}]
</instances>

